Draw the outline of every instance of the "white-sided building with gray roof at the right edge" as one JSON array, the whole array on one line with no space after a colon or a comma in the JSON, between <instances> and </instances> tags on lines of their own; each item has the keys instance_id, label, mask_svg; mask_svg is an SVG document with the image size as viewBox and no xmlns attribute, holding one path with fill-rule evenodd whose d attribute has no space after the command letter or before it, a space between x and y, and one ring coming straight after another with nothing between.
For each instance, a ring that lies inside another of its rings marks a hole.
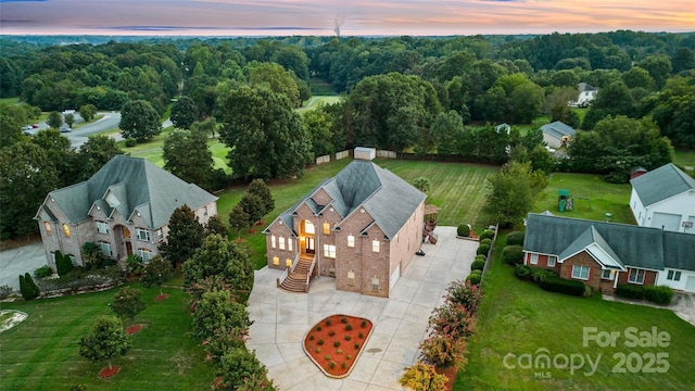
<instances>
[{"instance_id":1,"label":"white-sided building with gray roof at the right edge","mask_svg":"<svg viewBox=\"0 0 695 391\"><path fill-rule=\"evenodd\" d=\"M630 184L630 209L640 226L695 234L695 179L669 163Z\"/></svg>"}]
</instances>

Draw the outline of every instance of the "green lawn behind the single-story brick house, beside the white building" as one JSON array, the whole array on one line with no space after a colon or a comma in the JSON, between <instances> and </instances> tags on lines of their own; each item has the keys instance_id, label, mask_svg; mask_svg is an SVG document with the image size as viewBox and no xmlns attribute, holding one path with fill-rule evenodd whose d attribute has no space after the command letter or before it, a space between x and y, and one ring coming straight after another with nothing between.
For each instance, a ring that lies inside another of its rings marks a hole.
<instances>
[{"instance_id":1,"label":"green lawn behind the single-story brick house, beside the white building","mask_svg":"<svg viewBox=\"0 0 695 391\"><path fill-rule=\"evenodd\" d=\"M574 198L572 211L558 211L557 191L569 190ZM602 179L601 175L553 173L548 186L533 206L533 212L551 211L567 217L603 220L605 213L612 214L612 222L636 224L630 211L629 184L615 185ZM587 198L580 199L580 197Z\"/></svg>"}]
</instances>

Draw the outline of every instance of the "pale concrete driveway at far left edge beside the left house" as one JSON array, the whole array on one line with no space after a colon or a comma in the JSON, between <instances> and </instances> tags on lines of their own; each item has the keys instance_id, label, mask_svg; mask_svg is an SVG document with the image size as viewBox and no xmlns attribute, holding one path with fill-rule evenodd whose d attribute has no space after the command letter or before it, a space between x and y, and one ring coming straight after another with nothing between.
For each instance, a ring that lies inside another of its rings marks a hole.
<instances>
[{"instance_id":1,"label":"pale concrete driveway at far left edge beside the left house","mask_svg":"<svg viewBox=\"0 0 695 391\"><path fill-rule=\"evenodd\" d=\"M0 251L0 286L20 291L20 275L47 265L43 243L40 241L16 249Z\"/></svg>"}]
</instances>

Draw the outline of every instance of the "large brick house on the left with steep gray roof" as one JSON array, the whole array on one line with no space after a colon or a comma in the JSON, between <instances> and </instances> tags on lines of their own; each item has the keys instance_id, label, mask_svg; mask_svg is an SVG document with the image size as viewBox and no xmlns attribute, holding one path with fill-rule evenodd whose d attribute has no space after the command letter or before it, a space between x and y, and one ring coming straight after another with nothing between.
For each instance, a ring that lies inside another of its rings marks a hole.
<instances>
[{"instance_id":1,"label":"large brick house on the left with steep gray roof","mask_svg":"<svg viewBox=\"0 0 695 391\"><path fill-rule=\"evenodd\" d=\"M143 159L116 155L88 180L49 192L34 218L53 268L56 251L84 266L87 242L117 261L138 254L148 262L184 204L201 224L217 215L217 197Z\"/></svg>"}]
</instances>

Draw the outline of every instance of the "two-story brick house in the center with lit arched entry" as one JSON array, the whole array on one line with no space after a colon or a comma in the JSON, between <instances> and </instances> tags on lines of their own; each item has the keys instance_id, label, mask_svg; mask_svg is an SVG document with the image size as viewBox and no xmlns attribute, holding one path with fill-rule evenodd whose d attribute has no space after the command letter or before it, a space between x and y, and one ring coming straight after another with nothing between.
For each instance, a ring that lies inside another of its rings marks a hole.
<instances>
[{"instance_id":1,"label":"two-story brick house in the center with lit arched entry","mask_svg":"<svg viewBox=\"0 0 695 391\"><path fill-rule=\"evenodd\" d=\"M390 295L422 243L426 195L372 157L356 149L353 162L264 230L268 267L304 257L339 290Z\"/></svg>"}]
</instances>

